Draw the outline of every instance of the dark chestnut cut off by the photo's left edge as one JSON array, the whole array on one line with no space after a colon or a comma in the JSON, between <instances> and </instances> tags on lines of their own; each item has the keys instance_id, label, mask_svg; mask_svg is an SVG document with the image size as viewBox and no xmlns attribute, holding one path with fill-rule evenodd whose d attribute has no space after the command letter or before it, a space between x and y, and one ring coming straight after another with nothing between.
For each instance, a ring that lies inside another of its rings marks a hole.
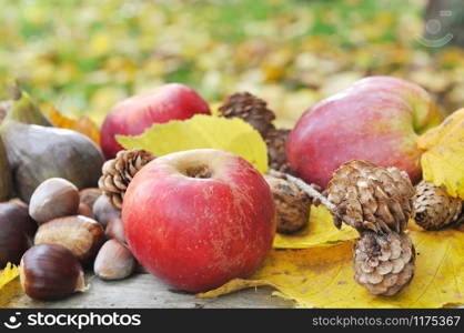
<instances>
[{"instance_id":1,"label":"dark chestnut cut off by the photo's left edge","mask_svg":"<svg viewBox=\"0 0 464 333\"><path fill-rule=\"evenodd\" d=\"M29 216L24 203L17 200L0 203L0 268L8 262L19 264L36 230L37 223Z\"/></svg>"}]
</instances>

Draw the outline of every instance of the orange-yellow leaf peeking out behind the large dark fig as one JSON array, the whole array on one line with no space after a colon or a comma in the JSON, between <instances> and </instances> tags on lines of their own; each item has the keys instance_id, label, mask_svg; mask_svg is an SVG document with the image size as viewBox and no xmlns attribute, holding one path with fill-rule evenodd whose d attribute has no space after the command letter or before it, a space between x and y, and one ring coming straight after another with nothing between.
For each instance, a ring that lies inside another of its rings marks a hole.
<instances>
[{"instance_id":1,"label":"orange-yellow leaf peeking out behind the large dark fig","mask_svg":"<svg viewBox=\"0 0 464 333\"><path fill-rule=\"evenodd\" d=\"M100 144L100 129L89 118L80 117L79 119L74 120L61 114L54 108L49 109L47 111L47 115L54 127L82 133L92 139L97 144Z\"/></svg>"}]
</instances>

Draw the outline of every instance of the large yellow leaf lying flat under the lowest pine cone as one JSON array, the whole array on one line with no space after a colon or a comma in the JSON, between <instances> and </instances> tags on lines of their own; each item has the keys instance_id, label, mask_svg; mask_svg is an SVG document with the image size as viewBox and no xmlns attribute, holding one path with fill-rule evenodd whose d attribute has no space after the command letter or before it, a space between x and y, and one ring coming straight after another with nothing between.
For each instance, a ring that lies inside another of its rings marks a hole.
<instances>
[{"instance_id":1,"label":"large yellow leaf lying flat under the lowest pine cone","mask_svg":"<svg viewBox=\"0 0 464 333\"><path fill-rule=\"evenodd\" d=\"M442 307L464 303L464 233L410 231L417 252L411 284L393 297L375 296L354 281L353 241L331 248L273 250L248 280L233 280L199 294L214 297L270 285L299 307Z\"/></svg>"}]
</instances>

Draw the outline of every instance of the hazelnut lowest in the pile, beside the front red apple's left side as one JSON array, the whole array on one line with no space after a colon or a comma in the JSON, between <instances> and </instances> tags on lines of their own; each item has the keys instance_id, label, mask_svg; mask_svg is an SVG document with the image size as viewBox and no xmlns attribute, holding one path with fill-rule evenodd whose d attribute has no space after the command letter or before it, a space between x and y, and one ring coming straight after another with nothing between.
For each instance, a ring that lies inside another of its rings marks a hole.
<instances>
[{"instance_id":1,"label":"hazelnut lowest in the pile, beside the front red apple's left side","mask_svg":"<svg viewBox=\"0 0 464 333\"><path fill-rule=\"evenodd\" d=\"M118 240L109 240L101 246L93 271L103 280L120 280L131 275L137 261L131 251Z\"/></svg>"}]
</instances>

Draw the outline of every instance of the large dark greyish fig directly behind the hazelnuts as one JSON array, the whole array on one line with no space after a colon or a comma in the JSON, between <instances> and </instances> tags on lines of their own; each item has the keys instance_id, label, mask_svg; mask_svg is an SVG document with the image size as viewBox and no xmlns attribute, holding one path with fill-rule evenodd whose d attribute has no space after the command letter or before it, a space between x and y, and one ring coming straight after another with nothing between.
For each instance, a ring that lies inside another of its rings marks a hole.
<instances>
[{"instance_id":1,"label":"large dark greyish fig directly behind the hazelnuts","mask_svg":"<svg viewBox=\"0 0 464 333\"><path fill-rule=\"evenodd\" d=\"M78 189L95 186L103 154L88 137L64 129L3 122L8 162L19 198L29 202L44 180L63 178Z\"/></svg>"}]
</instances>

